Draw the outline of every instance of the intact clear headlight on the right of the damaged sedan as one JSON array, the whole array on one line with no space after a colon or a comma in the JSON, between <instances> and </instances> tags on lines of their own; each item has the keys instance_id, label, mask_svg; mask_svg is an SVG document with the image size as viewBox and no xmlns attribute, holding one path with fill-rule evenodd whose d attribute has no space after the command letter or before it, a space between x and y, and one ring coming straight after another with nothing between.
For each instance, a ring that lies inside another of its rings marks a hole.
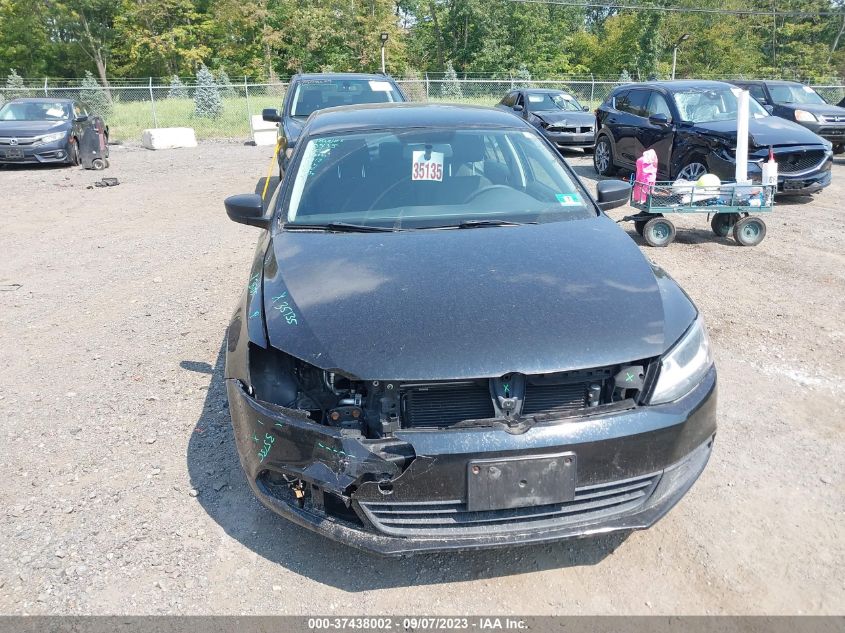
<instances>
[{"instance_id":1,"label":"intact clear headlight on the right of the damaged sedan","mask_svg":"<svg viewBox=\"0 0 845 633\"><path fill-rule=\"evenodd\" d=\"M710 340L699 315L686 334L661 359L651 404L672 402L687 395L712 365Z\"/></svg>"}]
</instances>

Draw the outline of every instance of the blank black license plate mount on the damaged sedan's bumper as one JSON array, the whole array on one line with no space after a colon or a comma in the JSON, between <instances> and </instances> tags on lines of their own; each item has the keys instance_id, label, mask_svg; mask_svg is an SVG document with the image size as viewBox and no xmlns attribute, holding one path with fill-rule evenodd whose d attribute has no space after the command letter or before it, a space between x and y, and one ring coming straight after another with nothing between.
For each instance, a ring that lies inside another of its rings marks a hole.
<instances>
[{"instance_id":1,"label":"blank black license plate mount on the damaged sedan's bumper","mask_svg":"<svg viewBox=\"0 0 845 633\"><path fill-rule=\"evenodd\" d=\"M505 510L575 498L575 453L474 459L467 463L467 509Z\"/></svg>"}]
</instances>

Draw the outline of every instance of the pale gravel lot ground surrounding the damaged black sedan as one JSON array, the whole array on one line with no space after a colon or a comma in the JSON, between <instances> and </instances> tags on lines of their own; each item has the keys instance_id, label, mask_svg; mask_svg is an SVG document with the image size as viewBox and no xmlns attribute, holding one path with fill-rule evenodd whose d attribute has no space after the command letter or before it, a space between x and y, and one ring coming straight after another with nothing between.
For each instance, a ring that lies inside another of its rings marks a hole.
<instances>
[{"instance_id":1,"label":"pale gravel lot ground surrounding the damaged black sedan","mask_svg":"<svg viewBox=\"0 0 845 633\"><path fill-rule=\"evenodd\" d=\"M264 509L237 460L221 344L257 231L222 200L253 189L271 149L0 170L0 613L845 611L841 159L756 248L715 239L704 216L643 246L702 310L720 372L713 458L666 518L627 538L391 560ZM87 188L103 175L120 186Z\"/></svg>"}]
</instances>

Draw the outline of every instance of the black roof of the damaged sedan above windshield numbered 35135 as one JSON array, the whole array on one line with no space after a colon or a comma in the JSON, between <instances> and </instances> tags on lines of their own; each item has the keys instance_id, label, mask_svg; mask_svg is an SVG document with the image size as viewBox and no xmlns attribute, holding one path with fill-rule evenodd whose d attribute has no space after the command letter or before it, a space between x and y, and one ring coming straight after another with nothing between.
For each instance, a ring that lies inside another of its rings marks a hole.
<instances>
[{"instance_id":1,"label":"black roof of the damaged sedan above windshield numbered 35135","mask_svg":"<svg viewBox=\"0 0 845 633\"><path fill-rule=\"evenodd\" d=\"M528 128L519 117L484 106L420 103L373 103L317 110L308 134L397 128Z\"/></svg>"}]
</instances>

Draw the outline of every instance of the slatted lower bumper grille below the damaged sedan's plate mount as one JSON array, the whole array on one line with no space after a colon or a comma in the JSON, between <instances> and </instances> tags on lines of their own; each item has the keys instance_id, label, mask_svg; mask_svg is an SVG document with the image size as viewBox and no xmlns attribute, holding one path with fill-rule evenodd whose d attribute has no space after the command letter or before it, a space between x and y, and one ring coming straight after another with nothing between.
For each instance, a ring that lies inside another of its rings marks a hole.
<instances>
[{"instance_id":1,"label":"slatted lower bumper grille below the damaged sedan's plate mount","mask_svg":"<svg viewBox=\"0 0 845 633\"><path fill-rule=\"evenodd\" d=\"M507 510L470 512L463 501L360 502L370 522L394 536L448 537L518 532L603 521L633 512L651 495L660 473L575 489L575 499Z\"/></svg>"}]
</instances>

